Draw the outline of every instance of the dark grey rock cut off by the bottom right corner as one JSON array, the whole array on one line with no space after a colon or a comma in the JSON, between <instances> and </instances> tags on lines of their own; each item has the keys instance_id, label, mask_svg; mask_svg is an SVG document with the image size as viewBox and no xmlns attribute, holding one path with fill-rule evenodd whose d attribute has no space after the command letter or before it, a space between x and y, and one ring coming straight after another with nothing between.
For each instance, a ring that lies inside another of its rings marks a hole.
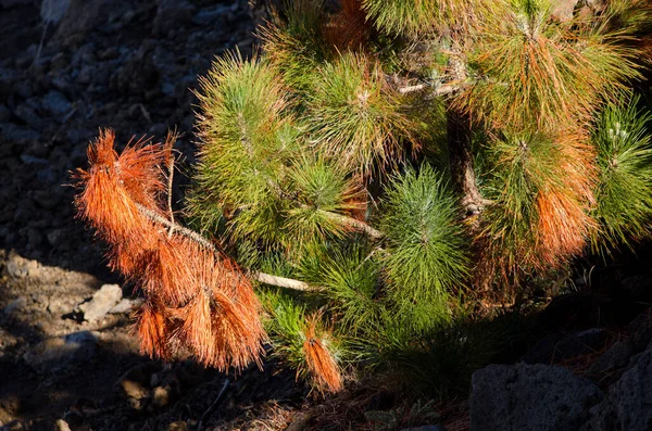
<instances>
[{"instance_id":1,"label":"dark grey rock cut off by the bottom right corner","mask_svg":"<svg viewBox=\"0 0 652 431\"><path fill-rule=\"evenodd\" d=\"M652 427L652 350L614 383L607 397L591 409L581 431L649 431Z\"/></svg>"}]
</instances>

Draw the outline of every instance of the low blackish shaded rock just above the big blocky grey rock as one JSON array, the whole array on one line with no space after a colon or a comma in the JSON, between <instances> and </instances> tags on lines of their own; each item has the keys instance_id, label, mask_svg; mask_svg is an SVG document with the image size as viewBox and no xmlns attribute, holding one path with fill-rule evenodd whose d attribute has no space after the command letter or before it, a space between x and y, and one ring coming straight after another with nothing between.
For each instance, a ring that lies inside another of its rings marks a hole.
<instances>
[{"instance_id":1,"label":"low blackish shaded rock just above the big blocky grey rock","mask_svg":"<svg viewBox=\"0 0 652 431\"><path fill-rule=\"evenodd\" d=\"M567 359L601 348L606 339L603 329L587 329L567 334L554 332L539 340L523 356L526 364L550 364L553 359Z\"/></svg>"}]
</instances>

